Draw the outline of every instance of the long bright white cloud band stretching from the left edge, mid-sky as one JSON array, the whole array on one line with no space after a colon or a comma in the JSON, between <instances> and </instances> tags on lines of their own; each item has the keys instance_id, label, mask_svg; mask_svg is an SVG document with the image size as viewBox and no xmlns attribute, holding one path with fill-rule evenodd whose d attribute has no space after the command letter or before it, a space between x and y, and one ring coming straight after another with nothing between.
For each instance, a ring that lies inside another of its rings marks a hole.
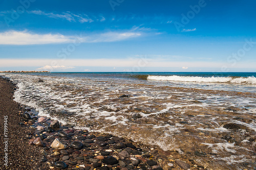
<instances>
[{"instance_id":1,"label":"long bright white cloud band stretching from the left edge, mid-sky","mask_svg":"<svg viewBox=\"0 0 256 170\"><path fill-rule=\"evenodd\" d=\"M141 36L142 32L126 30L120 32L106 32L80 36L79 41L83 43L113 42ZM72 43L76 36L65 36L61 34L36 34L28 31L7 31L0 33L0 45L30 45L30 44L53 44Z\"/></svg>"}]
</instances>

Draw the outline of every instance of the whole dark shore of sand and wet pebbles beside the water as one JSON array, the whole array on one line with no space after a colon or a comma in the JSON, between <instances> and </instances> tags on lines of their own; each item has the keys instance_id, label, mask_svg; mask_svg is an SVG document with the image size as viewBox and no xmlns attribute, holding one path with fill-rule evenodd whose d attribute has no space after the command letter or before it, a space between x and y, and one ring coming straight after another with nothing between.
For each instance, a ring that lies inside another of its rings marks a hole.
<instances>
[{"instance_id":1,"label":"whole dark shore of sand and wet pebbles beside the water","mask_svg":"<svg viewBox=\"0 0 256 170\"><path fill-rule=\"evenodd\" d=\"M77 130L37 115L13 101L15 85L0 78L1 117L8 116L8 165L0 169L205 169L178 151L135 143L111 134ZM1 148L4 148L1 118ZM186 163L187 162L187 163Z\"/></svg>"}]
</instances>

